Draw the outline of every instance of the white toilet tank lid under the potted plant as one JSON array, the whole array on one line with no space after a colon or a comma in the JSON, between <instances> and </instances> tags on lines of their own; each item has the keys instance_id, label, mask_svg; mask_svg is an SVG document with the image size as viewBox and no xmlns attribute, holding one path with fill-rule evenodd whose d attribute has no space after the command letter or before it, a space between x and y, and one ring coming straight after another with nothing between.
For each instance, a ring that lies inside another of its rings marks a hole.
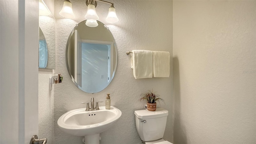
<instances>
[{"instance_id":1,"label":"white toilet tank lid under the potted plant","mask_svg":"<svg viewBox=\"0 0 256 144\"><path fill-rule=\"evenodd\" d=\"M163 116L168 116L168 110L164 108L156 108L156 111L149 110L135 110L134 114L137 118L146 119L146 118L159 118Z\"/></svg>"}]
</instances>

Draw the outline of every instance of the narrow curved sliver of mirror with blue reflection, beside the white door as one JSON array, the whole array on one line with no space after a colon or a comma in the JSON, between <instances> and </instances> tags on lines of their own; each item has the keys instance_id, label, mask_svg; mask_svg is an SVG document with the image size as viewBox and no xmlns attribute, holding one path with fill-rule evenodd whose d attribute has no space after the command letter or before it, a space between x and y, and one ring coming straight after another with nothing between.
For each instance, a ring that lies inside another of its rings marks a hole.
<instances>
[{"instance_id":1,"label":"narrow curved sliver of mirror with blue reflection, beside the white door","mask_svg":"<svg viewBox=\"0 0 256 144\"><path fill-rule=\"evenodd\" d=\"M39 51L38 51L38 67L39 68L46 68L48 62L48 48L47 43L44 37L44 33L42 32L41 28L39 28Z\"/></svg>"}]
</instances>

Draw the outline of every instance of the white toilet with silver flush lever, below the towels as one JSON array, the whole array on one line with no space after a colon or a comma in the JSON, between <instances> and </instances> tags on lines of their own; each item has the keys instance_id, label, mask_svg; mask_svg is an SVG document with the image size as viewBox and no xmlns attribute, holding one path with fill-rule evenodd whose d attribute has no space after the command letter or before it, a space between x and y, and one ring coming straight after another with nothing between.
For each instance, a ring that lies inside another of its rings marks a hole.
<instances>
[{"instance_id":1,"label":"white toilet with silver flush lever, below the towels","mask_svg":"<svg viewBox=\"0 0 256 144\"><path fill-rule=\"evenodd\" d=\"M156 108L156 111L135 110L137 132L144 144L172 144L164 139L164 130L168 110Z\"/></svg>"}]
</instances>

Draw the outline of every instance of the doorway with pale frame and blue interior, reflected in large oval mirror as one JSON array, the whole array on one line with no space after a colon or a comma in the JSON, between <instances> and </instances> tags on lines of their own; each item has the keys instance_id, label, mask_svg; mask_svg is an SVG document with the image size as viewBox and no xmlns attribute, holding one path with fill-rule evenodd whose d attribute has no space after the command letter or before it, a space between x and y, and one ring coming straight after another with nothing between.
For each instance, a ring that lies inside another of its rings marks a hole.
<instances>
[{"instance_id":1,"label":"doorway with pale frame and blue interior, reflected in large oval mirror","mask_svg":"<svg viewBox=\"0 0 256 144\"><path fill-rule=\"evenodd\" d=\"M83 40L81 44L81 56L78 56L78 71L81 76L79 88L86 92L98 92L106 87L113 73L113 42ZM79 50L78 50L79 51ZM80 64L80 65L79 65ZM112 72L112 73L111 73ZM78 80L79 81L79 80Z\"/></svg>"}]
</instances>

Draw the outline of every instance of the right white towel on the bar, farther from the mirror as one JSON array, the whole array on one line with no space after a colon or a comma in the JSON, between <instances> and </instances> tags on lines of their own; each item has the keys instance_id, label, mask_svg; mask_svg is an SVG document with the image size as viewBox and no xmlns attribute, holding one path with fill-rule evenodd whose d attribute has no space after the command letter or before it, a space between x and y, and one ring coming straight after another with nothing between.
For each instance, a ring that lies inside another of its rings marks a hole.
<instances>
[{"instance_id":1,"label":"right white towel on the bar, farther from the mirror","mask_svg":"<svg viewBox=\"0 0 256 144\"><path fill-rule=\"evenodd\" d=\"M153 76L170 76L170 53L153 51Z\"/></svg>"}]
</instances>

